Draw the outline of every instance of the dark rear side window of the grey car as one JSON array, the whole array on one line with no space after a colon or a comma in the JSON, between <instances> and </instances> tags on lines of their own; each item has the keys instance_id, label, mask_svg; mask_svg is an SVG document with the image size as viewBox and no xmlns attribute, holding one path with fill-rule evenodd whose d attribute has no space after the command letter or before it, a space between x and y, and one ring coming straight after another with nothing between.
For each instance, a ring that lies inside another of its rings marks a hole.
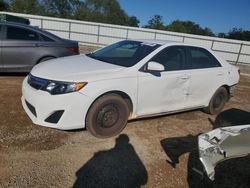
<instances>
[{"instance_id":1,"label":"dark rear side window of the grey car","mask_svg":"<svg viewBox=\"0 0 250 188\"><path fill-rule=\"evenodd\" d=\"M36 32L28 30L28 29L8 26L7 39L38 41L39 35Z\"/></svg>"}]
</instances>

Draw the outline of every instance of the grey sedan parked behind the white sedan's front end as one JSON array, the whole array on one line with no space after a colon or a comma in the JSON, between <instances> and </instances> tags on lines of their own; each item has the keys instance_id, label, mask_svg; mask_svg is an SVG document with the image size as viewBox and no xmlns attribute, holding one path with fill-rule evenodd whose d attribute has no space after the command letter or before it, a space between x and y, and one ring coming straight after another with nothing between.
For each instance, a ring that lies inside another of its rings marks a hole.
<instances>
[{"instance_id":1,"label":"grey sedan parked behind the white sedan's front end","mask_svg":"<svg viewBox=\"0 0 250 188\"><path fill-rule=\"evenodd\" d=\"M76 54L78 42L26 24L0 22L0 72L27 72L48 59Z\"/></svg>"}]
</instances>

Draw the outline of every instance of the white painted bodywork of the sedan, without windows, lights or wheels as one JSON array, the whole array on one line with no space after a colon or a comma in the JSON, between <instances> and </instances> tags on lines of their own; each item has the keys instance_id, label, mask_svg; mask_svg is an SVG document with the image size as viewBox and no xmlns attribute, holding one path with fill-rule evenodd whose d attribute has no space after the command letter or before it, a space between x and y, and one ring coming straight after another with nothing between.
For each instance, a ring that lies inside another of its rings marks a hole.
<instances>
[{"instance_id":1,"label":"white painted bodywork of the sedan, without windows, lights or wheels","mask_svg":"<svg viewBox=\"0 0 250 188\"><path fill-rule=\"evenodd\" d=\"M162 46L132 67L105 63L85 55L38 64L31 71L35 77L88 84L78 92L51 95L32 88L25 78L22 87L22 104L25 111L35 124L58 129L77 129L85 127L85 118L90 106L105 93L118 91L128 95L133 106L129 118L133 119L205 107L219 87L238 83L238 69L219 57L217 59L222 65L220 68L164 71L158 76L142 72L142 66L162 49L174 45L188 46L166 41L144 42ZM37 117L30 113L25 101L34 106ZM57 124L45 122L45 118L56 110L65 110L60 121Z\"/></svg>"}]
</instances>

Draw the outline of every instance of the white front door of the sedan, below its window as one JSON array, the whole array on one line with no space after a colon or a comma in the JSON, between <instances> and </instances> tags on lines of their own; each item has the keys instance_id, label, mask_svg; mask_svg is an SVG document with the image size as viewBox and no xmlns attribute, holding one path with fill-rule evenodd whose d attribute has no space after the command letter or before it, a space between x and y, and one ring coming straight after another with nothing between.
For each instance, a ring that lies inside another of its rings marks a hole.
<instances>
[{"instance_id":1,"label":"white front door of the sedan, below its window","mask_svg":"<svg viewBox=\"0 0 250 188\"><path fill-rule=\"evenodd\" d=\"M158 114L185 108L189 80L186 71L151 73L138 75L138 116ZM153 91L153 93L152 93Z\"/></svg>"}]
</instances>

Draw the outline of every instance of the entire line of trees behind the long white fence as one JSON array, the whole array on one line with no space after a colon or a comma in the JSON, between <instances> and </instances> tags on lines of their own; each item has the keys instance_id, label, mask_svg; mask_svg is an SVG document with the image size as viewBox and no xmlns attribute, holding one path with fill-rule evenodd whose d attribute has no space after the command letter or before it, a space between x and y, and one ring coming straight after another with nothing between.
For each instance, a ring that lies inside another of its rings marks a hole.
<instances>
[{"instance_id":1,"label":"entire line of trees behind the long white fence","mask_svg":"<svg viewBox=\"0 0 250 188\"><path fill-rule=\"evenodd\" d=\"M140 20L129 16L118 0L0 0L0 11L35 14L100 23L139 27ZM144 28L159 29L203 36L217 36L250 41L250 31L233 28L228 33L215 34L208 27L201 27L192 21L174 20L163 22L160 15L152 16Z\"/></svg>"}]
</instances>

